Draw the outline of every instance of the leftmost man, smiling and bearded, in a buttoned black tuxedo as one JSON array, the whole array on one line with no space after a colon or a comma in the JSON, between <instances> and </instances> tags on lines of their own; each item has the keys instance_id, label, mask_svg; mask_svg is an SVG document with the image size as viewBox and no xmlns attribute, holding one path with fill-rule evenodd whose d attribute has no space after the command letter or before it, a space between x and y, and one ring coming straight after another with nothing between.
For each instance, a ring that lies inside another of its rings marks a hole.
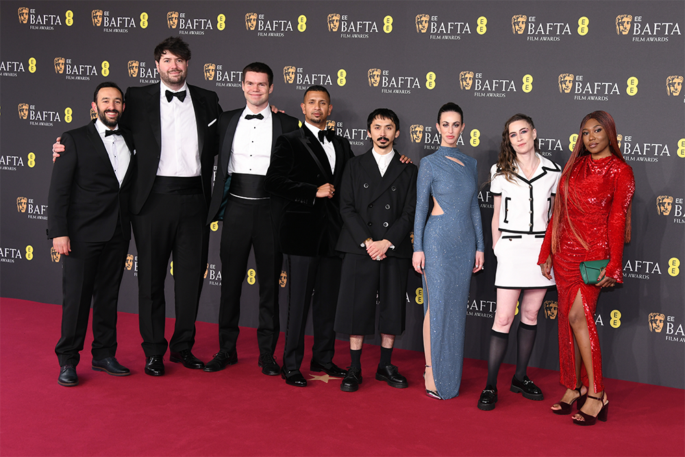
<instances>
[{"instance_id":1,"label":"leftmost man, smiling and bearded, in a buttoned black tuxedo","mask_svg":"<svg viewBox=\"0 0 685 457\"><path fill-rule=\"evenodd\" d=\"M135 157L132 139L119 130L123 92L113 82L95 88L97 119L62 134L48 196L48 238L62 254L62 336L55 347L58 383L79 383L92 299L92 369L129 375L116 361L116 303L131 239L129 195Z\"/></svg>"}]
</instances>

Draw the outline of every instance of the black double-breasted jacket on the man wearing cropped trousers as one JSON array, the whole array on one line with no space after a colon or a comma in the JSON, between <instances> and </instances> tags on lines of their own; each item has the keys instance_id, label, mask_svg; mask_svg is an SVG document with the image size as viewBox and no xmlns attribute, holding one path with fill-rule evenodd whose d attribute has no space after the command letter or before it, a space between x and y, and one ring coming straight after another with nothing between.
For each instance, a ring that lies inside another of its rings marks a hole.
<instances>
[{"instance_id":1,"label":"black double-breasted jacket on the man wearing cropped trousers","mask_svg":"<svg viewBox=\"0 0 685 457\"><path fill-rule=\"evenodd\" d=\"M352 158L345 166L340 184L340 214L343 231L336 249L352 254L366 254L366 238L386 239L395 249L386 256L411 258L412 229L416 212L416 165L399 161L399 153L390 160L381 176L371 149Z\"/></svg>"}]
</instances>

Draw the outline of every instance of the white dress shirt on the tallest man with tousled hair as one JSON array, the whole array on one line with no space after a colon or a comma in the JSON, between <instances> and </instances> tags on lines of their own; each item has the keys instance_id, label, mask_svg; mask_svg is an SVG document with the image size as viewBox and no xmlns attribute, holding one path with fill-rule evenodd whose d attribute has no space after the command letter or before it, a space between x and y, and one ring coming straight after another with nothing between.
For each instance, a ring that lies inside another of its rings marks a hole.
<instances>
[{"instance_id":1,"label":"white dress shirt on the tallest man with tousled hair","mask_svg":"<svg viewBox=\"0 0 685 457\"><path fill-rule=\"evenodd\" d=\"M171 90L171 92L185 90L184 101L180 101L177 97L167 101L166 90L171 90L171 88L160 81L162 152L157 175L199 176L200 152L197 145L197 123L188 84L184 83L181 90Z\"/></svg>"}]
</instances>

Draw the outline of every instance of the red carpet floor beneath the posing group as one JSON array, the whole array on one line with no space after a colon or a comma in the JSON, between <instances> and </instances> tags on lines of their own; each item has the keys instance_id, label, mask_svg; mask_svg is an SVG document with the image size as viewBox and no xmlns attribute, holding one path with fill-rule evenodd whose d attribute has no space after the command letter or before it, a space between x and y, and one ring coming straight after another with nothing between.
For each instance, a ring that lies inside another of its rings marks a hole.
<instances>
[{"instance_id":1,"label":"red carpet floor beneath the posing group","mask_svg":"<svg viewBox=\"0 0 685 457\"><path fill-rule=\"evenodd\" d=\"M423 393L422 353L393 353L410 382L395 389L373 377L374 346L364 347L358 392L341 392L338 380L296 388L262 375L251 328L238 338L237 365L204 373L169 362L167 354L166 375L152 378L143 373L138 318L126 313L119 314L117 358L132 375L90 369L89 331L80 384L65 388L57 384L53 350L60 306L0 299L0 312L3 456L672 456L685 445L680 389L607 379L609 421L580 428L549 412L563 392L554 371L529 370L547 397L532 402L508 391L514 367L503 366L497 408L484 412L475 405L485 362L465 360L460 396L440 402ZM215 324L197 323L194 354L210 360L217 338ZM347 343L339 341L336 351L338 365L347 366ZM302 370L308 379L310 354Z\"/></svg>"}]
</instances>

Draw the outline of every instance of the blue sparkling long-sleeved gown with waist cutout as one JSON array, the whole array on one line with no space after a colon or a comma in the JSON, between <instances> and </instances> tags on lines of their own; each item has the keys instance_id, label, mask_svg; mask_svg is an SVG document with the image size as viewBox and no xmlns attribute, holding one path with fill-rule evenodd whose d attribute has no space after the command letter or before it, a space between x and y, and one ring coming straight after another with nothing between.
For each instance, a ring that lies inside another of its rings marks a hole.
<instances>
[{"instance_id":1,"label":"blue sparkling long-sleeved gown with waist cutout","mask_svg":"<svg viewBox=\"0 0 685 457\"><path fill-rule=\"evenodd\" d=\"M431 195L443 214L431 215L426 222ZM423 312L430 305L433 377L443 399L459 395L466 306L476 250L485 251L476 160L459 149L440 147L421 159L419 166L414 251L425 255Z\"/></svg>"}]
</instances>

